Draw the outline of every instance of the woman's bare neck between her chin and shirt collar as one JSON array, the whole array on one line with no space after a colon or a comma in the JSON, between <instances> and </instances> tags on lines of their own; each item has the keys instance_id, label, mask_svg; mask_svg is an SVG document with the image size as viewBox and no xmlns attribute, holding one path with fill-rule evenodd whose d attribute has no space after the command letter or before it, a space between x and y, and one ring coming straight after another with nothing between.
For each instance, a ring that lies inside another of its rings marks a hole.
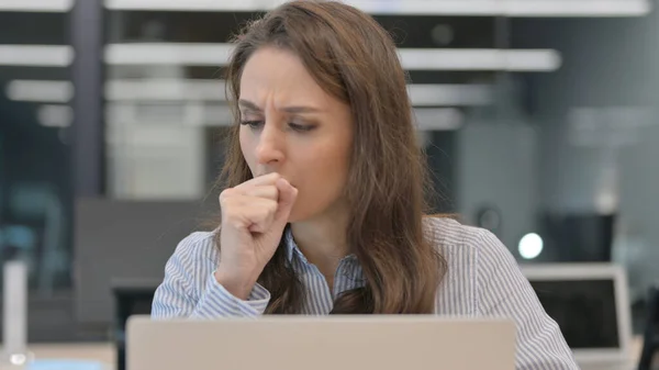
<instances>
[{"instance_id":1,"label":"woman's bare neck between her chin and shirt collar","mask_svg":"<svg viewBox=\"0 0 659 370\"><path fill-rule=\"evenodd\" d=\"M328 212L291 224L298 248L325 276L330 287L338 262L349 253L346 243L347 218L347 212Z\"/></svg>"}]
</instances>

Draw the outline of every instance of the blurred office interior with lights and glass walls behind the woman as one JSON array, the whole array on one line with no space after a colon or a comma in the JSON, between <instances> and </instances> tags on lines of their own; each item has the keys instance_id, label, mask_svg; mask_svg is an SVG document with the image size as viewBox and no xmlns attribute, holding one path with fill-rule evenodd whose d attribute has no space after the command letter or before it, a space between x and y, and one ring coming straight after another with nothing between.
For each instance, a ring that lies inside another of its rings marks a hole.
<instances>
[{"instance_id":1,"label":"blurred office interior with lights and glass walls behind the woman","mask_svg":"<svg viewBox=\"0 0 659 370\"><path fill-rule=\"evenodd\" d=\"M521 264L621 264L643 312L659 280L654 1L353 2L400 46L437 212ZM216 209L226 43L269 3L0 1L0 250L29 261L31 340L111 338L113 289L157 282Z\"/></svg>"}]
</instances>

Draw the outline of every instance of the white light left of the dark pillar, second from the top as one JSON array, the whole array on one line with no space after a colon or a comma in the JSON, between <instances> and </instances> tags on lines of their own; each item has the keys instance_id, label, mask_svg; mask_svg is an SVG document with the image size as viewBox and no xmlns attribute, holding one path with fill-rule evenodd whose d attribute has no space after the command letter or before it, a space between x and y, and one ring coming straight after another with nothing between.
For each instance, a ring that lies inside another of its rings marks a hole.
<instances>
[{"instance_id":1,"label":"white light left of the dark pillar, second from the top","mask_svg":"<svg viewBox=\"0 0 659 370\"><path fill-rule=\"evenodd\" d=\"M68 45L0 45L0 66L67 67L72 60Z\"/></svg>"}]
</instances>

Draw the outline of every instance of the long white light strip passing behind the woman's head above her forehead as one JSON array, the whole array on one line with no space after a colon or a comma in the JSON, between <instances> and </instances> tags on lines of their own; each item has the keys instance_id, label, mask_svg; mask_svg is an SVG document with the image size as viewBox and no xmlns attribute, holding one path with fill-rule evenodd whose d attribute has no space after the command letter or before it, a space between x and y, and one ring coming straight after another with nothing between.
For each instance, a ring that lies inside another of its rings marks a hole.
<instances>
[{"instance_id":1,"label":"long white light strip passing behind the woman's head above her forehead","mask_svg":"<svg viewBox=\"0 0 659 370\"><path fill-rule=\"evenodd\" d=\"M226 65L233 45L193 43L110 44L104 59L109 65ZM399 48L409 70L509 70L552 71L561 57L554 49L423 49Z\"/></svg>"}]
</instances>

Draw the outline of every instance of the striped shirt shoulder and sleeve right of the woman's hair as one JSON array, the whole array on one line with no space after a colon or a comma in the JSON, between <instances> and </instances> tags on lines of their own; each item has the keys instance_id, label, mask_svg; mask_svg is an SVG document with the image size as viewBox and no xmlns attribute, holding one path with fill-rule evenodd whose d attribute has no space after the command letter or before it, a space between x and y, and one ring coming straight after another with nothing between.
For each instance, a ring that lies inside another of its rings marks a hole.
<instances>
[{"instance_id":1,"label":"striped shirt shoulder and sleeve right of the woman's hair","mask_svg":"<svg viewBox=\"0 0 659 370\"><path fill-rule=\"evenodd\" d=\"M427 220L427 229L448 265L437 314L512 319L517 369L578 369L560 327L494 234L450 218Z\"/></svg>"}]
</instances>

